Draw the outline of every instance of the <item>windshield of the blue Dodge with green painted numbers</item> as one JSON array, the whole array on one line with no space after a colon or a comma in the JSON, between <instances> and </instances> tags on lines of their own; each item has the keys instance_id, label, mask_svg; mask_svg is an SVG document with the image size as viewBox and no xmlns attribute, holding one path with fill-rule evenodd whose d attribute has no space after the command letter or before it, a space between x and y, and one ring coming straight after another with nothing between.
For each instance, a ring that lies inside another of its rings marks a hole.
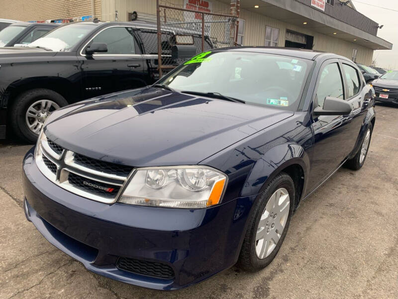
<instances>
[{"instance_id":1,"label":"windshield of the blue Dodge with green painted numbers","mask_svg":"<svg viewBox=\"0 0 398 299\"><path fill-rule=\"evenodd\" d=\"M158 83L180 92L219 93L246 104L296 111L312 61L254 52L203 52Z\"/></svg>"}]
</instances>

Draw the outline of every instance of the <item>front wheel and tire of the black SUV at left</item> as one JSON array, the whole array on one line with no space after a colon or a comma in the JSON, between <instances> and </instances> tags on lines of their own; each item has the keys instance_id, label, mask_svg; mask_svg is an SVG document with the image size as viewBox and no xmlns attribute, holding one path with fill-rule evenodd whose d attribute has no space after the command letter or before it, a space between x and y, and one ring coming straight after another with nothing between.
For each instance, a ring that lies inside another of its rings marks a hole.
<instances>
[{"instance_id":1,"label":"front wheel and tire of the black SUV at left","mask_svg":"<svg viewBox=\"0 0 398 299\"><path fill-rule=\"evenodd\" d=\"M11 106L10 123L16 136L35 143L46 118L68 105L63 96L49 89L31 89L20 94Z\"/></svg>"}]
</instances>

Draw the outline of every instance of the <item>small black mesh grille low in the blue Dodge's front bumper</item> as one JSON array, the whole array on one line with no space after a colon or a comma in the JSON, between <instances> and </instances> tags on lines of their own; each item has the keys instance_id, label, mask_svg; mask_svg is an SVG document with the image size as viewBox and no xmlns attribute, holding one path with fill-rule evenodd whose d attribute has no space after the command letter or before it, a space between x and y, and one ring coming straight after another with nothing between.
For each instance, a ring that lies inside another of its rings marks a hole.
<instances>
[{"instance_id":1,"label":"small black mesh grille low in the blue Dodge's front bumper","mask_svg":"<svg viewBox=\"0 0 398 299\"><path fill-rule=\"evenodd\" d=\"M169 265L129 258L119 258L116 267L120 270L162 279L173 279L174 271Z\"/></svg>"}]
</instances>

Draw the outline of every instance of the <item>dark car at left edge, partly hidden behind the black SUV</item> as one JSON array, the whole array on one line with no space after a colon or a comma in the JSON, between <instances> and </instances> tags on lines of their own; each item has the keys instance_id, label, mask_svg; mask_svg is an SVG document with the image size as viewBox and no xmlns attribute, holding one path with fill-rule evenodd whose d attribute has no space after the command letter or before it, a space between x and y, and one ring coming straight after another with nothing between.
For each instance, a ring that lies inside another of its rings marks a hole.
<instances>
[{"instance_id":1,"label":"dark car at left edge, partly hidden behind the black SUV","mask_svg":"<svg viewBox=\"0 0 398 299\"><path fill-rule=\"evenodd\" d=\"M59 25L57 23L13 23L0 31L0 47L12 47L15 44L27 45Z\"/></svg>"}]
</instances>

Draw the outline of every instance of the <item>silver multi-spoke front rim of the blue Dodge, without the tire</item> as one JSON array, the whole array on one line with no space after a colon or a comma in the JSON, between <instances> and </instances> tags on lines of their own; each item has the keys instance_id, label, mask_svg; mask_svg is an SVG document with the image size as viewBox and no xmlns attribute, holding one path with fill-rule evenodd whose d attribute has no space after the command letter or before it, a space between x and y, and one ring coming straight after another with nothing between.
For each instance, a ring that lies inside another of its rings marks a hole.
<instances>
[{"instance_id":1,"label":"silver multi-spoke front rim of the blue Dodge, without the tire","mask_svg":"<svg viewBox=\"0 0 398 299\"><path fill-rule=\"evenodd\" d=\"M289 211L289 192L279 188L271 195L257 227L256 255L259 259L268 257L274 251L285 229Z\"/></svg>"}]
</instances>

